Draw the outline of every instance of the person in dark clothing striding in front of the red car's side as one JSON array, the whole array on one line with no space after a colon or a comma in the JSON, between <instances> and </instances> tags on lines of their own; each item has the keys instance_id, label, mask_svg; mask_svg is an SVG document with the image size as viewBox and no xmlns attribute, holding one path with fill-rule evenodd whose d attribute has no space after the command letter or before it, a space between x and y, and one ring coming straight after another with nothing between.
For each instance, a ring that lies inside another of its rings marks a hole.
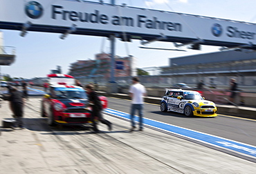
<instances>
[{"instance_id":1,"label":"person in dark clothing striding in front of the red car's side","mask_svg":"<svg viewBox=\"0 0 256 174\"><path fill-rule=\"evenodd\" d=\"M102 124L106 124L109 127L109 131L112 130L112 124L107 119L104 119L102 116L102 104L98 94L94 91L94 87L92 84L88 84L85 86L86 93L88 95L89 102L91 104L92 113L91 113L91 122L93 122L93 131L98 133L98 126L95 122L95 119L98 117L98 120Z\"/></svg>"}]
</instances>

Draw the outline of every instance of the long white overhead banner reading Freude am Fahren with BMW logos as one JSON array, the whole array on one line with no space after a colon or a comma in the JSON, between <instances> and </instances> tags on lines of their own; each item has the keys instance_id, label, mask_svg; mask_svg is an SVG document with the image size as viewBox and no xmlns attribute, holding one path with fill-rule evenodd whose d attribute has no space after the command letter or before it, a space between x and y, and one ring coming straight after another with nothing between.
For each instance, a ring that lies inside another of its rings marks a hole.
<instances>
[{"instance_id":1,"label":"long white overhead banner reading Freude am Fahren with BMW logos","mask_svg":"<svg viewBox=\"0 0 256 174\"><path fill-rule=\"evenodd\" d=\"M167 40L203 39L236 44L256 44L256 26L196 17L188 14L140 8L109 6L73 1L0 1L0 23L26 23L33 26L71 27L77 30L129 33L129 35L165 35Z\"/></svg>"}]
</instances>

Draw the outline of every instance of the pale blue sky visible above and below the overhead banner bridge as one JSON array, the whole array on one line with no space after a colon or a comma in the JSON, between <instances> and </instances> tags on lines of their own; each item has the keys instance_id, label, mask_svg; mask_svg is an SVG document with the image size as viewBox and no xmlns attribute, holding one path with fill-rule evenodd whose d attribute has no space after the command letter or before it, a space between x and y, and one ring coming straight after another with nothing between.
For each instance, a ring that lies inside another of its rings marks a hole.
<instances>
[{"instance_id":1,"label":"pale blue sky visible above and below the overhead banner bridge","mask_svg":"<svg viewBox=\"0 0 256 174\"><path fill-rule=\"evenodd\" d=\"M109 3L110 0L104 0ZM127 3L127 6L198 14L206 17L232 19L256 23L256 1L254 0L116 0L116 4ZM255 28L256 29L256 28ZM28 32L26 37L20 37L20 31L1 30L4 46L16 48L16 61L11 66L1 66L1 73L11 77L45 77L51 69L62 66L64 73L68 72L69 65L77 60L94 59L95 54L109 52L110 43L103 37L68 35L60 39L60 34L44 32ZM203 46L199 50L175 52L167 50L148 50L138 48L140 41L131 43L116 41L116 55L125 57L133 55L138 58L138 68L167 66L170 57L201 54L218 51L219 47ZM150 47L175 48L173 43L154 42Z\"/></svg>"}]
</instances>

